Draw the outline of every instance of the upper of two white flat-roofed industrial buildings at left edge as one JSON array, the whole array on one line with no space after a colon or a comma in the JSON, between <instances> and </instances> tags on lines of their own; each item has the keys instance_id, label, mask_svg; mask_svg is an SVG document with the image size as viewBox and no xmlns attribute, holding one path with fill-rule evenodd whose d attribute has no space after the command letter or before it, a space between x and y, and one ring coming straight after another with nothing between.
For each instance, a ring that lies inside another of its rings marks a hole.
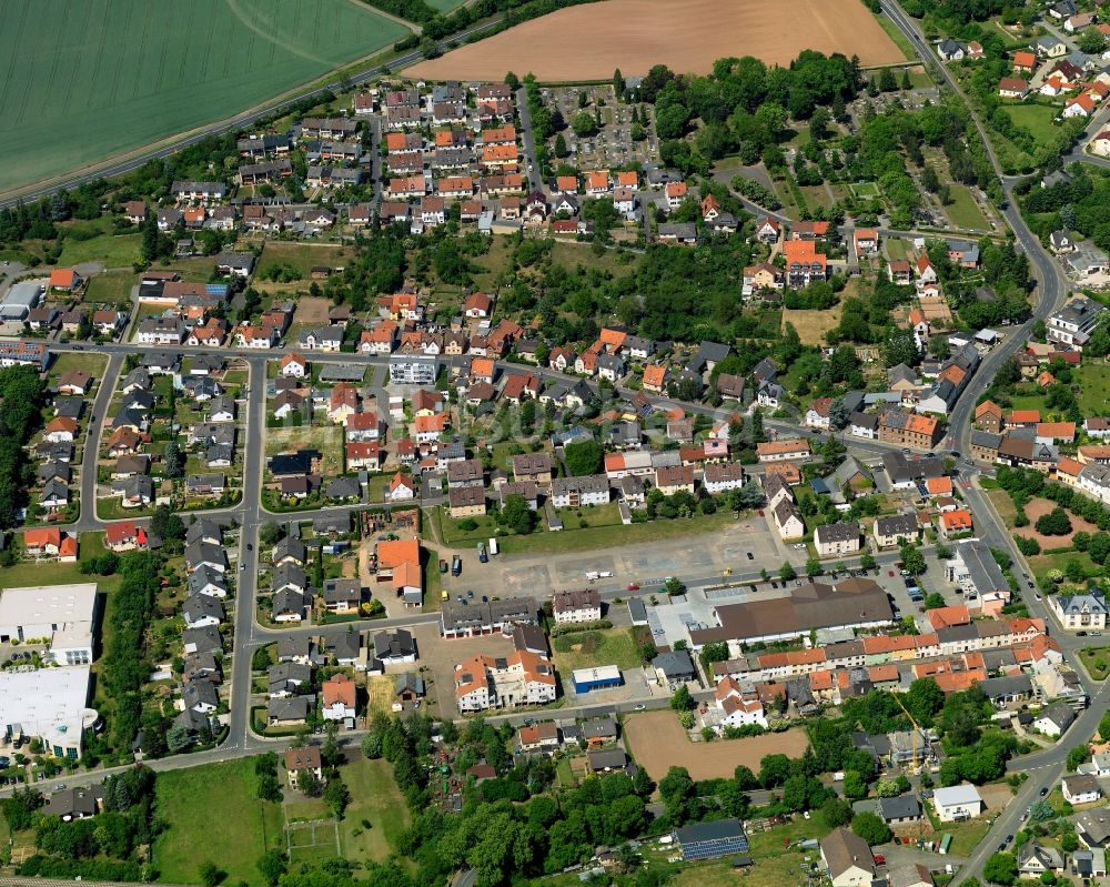
<instances>
[{"instance_id":1,"label":"upper of two white flat-roofed industrial buildings at left edge","mask_svg":"<svg viewBox=\"0 0 1110 887\"><path fill-rule=\"evenodd\" d=\"M47 585L0 592L0 644L48 645L57 665L92 663L97 584Z\"/></svg>"}]
</instances>

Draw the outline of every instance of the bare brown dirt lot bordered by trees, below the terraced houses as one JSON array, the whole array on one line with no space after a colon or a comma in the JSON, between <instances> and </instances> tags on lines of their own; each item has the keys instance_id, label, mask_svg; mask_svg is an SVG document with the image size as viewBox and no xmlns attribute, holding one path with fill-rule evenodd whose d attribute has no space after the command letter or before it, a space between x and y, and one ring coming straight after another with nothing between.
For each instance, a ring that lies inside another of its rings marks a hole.
<instances>
[{"instance_id":1,"label":"bare brown dirt lot bordered by trees, below the terraced houses","mask_svg":"<svg viewBox=\"0 0 1110 887\"><path fill-rule=\"evenodd\" d=\"M648 775L658 782L670 767L686 767L695 779L731 776L738 764L759 772L764 755L801 757L809 747L805 730L768 733L747 739L720 739L694 744L674 712L647 712L632 715L624 724L625 743Z\"/></svg>"}]
</instances>

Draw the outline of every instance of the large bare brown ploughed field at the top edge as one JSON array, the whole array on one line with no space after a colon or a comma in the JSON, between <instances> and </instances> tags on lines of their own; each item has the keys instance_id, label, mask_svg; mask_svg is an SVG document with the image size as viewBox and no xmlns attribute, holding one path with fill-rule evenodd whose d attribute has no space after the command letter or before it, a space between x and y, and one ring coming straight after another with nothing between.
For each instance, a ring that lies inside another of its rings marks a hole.
<instances>
[{"instance_id":1,"label":"large bare brown ploughed field at the top edge","mask_svg":"<svg viewBox=\"0 0 1110 887\"><path fill-rule=\"evenodd\" d=\"M507 71L531 71L544 82L608 80L614 68L629 77L653 64L708 73L714 60L728 56L785 65L804 49L856 54L864 65L905 61L859 0L606 0L509 28L405 73L501 80Z\"/></svg>"}]
</instances>

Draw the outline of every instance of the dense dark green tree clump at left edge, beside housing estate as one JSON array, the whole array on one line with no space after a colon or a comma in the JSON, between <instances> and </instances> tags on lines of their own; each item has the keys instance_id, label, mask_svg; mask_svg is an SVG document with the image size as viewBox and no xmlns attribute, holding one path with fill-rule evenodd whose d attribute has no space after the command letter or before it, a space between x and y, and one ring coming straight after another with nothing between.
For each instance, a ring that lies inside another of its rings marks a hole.
<instances>
[{"instance_id":1,"label":"dense dark green tree clump at left edge, beside housing estate","mask_svg":"<svg viewBox=\"0 0 1110 887\"><path fill-rule=\"evenodd\" d=\"M0 370L0 530L14 526L33 466L23 448L41 420L46 383L31 366Z\"/></svg>"}]
</instances>

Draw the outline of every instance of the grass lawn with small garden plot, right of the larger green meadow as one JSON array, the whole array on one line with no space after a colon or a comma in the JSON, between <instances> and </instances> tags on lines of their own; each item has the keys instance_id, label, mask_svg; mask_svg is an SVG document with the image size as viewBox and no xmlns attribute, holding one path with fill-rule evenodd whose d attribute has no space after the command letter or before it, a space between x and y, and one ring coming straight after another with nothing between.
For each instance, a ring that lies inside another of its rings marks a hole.
<instances>
[{"instance_id":1,"label":"grass lawn with small garden plot, right of the larger green meadow","mask_svg":"<svg viewBox=\"0 0 1110 887\"><path fill-rule=\"evenodd\" d=\"M383 860L396 849L401 834L408 827L408 806L393 780L393 766L360 756L341 773L351 789L351 806L340 823L343 856L357 859L365 855Z\"/></svg>"}]
</instances>

